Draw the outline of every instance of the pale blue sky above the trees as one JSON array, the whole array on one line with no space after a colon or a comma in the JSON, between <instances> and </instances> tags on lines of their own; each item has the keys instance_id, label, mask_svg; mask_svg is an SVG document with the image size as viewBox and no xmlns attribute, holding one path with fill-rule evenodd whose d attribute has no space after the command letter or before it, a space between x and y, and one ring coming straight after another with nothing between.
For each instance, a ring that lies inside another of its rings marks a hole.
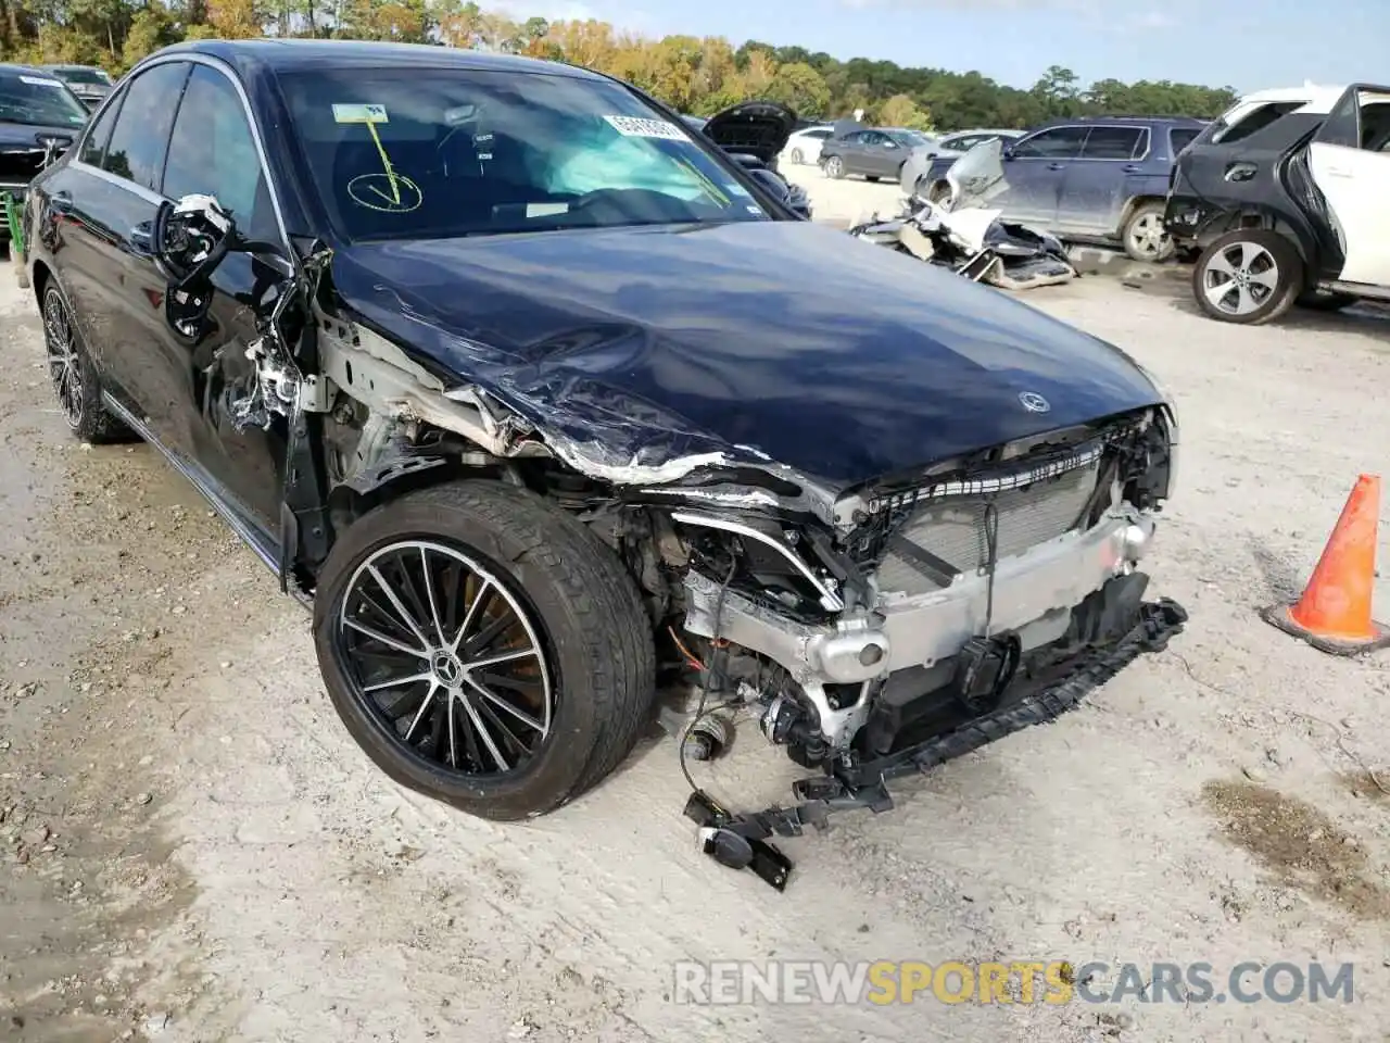
<instances>
[{"instance_id":1,"label":"pale blue sky above the trees","mask_svg":"<svg viewBox=\"0 0 1390 1043\"><path fill-rule=\"evenodd\" d=\"M484 3L482 7L496 4ZM1172 79L1238 92L1390 79L1390 0L507 0L651 36L799 45L1031 86L1048 65L1083 83ZM523 15L523 17L524 17ZM1379 78L1379 79L1377 79Z\"/></svg>"}]
</instances>

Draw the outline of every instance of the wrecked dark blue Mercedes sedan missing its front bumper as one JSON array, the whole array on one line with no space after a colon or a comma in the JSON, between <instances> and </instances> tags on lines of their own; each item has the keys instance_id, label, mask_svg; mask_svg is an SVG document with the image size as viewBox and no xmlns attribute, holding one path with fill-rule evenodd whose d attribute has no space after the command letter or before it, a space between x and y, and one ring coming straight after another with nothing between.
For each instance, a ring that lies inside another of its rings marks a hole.
<instances>
[{"instance_id":1,"label":"wrecked dark blue Mercedes sedan missing its front bumper","mask_svg":"<svg viewBox=\"0 0 1390 1043\"><path fill-rule=\"evenodd\" d=\"M468 812L552 811L656 719L717 755L751 713L815 769L801 802L687 811L784 886L773 834L1183 624L1136 572L1177 449L1148 374L796 220L596 72L179 45L25 232L76 435L158 446L311 604L356 741Z\"/></svg>"}]
</instances>

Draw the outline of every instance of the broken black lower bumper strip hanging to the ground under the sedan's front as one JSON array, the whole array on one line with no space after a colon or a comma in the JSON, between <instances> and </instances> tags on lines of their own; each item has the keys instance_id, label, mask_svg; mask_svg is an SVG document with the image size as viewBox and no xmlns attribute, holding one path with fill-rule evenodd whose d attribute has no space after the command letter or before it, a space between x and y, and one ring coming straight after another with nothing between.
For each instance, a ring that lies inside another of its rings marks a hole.
<instances>
[{"instance_id":1,"label":"broken black lower bumper strip hanging to the ground under the sedan's front","mask_svg":"<svg viewBox=\"0 0 1390 1043\"><path fill-rule=\"evenodd\" d=\"M1137 622L1127 633L1101 640L1077 655L1052 663L1036 684L1015 691L990 713L973 718L948 731L899 748L870 761L837 761L826 775L792 784L798 804L773 805L763 811L733 814L702 790L685 805L685 814L702 829L703 850L723 865L752 869L777 890L785 889L791 862L771 837L796 837L806 826L824 829L838 811L888 811L894 807L888 782L933 768L969 754L1033 725L1056 720L1074 709L1097 687L1111 680L1145 652L1162 651L1187 623L1187 612L1175 601L1161 598L1137 609Z\"/></svg>"}]
</instances>

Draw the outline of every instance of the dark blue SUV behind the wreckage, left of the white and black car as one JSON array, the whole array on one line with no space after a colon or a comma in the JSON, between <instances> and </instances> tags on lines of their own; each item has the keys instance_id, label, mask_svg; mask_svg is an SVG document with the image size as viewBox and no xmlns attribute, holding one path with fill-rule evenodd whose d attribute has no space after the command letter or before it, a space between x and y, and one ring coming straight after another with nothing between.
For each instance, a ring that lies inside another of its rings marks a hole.
<instances>
[{"instance_id":1,"label":"dark blue SUV behind the wreckage, left of the white and black car","mask_svg":"<svg viewBox=\"0 0 1390 1043\"><path fill-rule=\"evenodd\" d=\"M1205 124L1187 117L1077 117L1034 127L1004 149L1004 220L1076 242L1119 242L1134 260L1173 254L1163 200L1177 154ZM956 156L938 156L917 182L933 200L949 195Z\"/></svg>"}]
</instances>

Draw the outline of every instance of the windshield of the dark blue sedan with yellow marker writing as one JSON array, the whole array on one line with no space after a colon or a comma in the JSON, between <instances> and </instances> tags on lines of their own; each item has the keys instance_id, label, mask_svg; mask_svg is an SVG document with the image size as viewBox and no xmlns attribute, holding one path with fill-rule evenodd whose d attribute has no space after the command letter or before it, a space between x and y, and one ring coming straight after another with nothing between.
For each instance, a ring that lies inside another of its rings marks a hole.
<instances>
[{"instance_id":1,"label":"windshield of the dark blue sedan with yellow marker writing","mask_svg":"<svg viewBox=\"0 0 1390 1043\"><path fill-rule=\"evenodd\" d=\"M309 178L348 239L770 220L691 128L617 83L459 68L281 82Z\"/></svg>"}]
</instances>

